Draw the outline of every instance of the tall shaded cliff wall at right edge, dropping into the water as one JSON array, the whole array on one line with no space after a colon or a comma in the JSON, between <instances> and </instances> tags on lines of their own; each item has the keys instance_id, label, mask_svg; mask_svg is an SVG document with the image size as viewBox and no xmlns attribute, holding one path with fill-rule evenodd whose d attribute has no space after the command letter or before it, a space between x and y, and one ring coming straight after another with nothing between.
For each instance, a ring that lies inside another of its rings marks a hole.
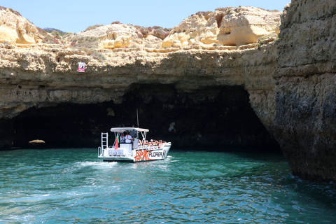
<instances>
[{"instance_id":1,"label":"tall shaded cliff wall at right edge, dropping into the water","mask_svg":"<svg viewBox=\"0 0 336 224\"><path fill-rule=\"evenodd\" d=\"M277 43L276 138L293 174L336 181L336 2L292 1Z\"/></svg>"}]
</instances>

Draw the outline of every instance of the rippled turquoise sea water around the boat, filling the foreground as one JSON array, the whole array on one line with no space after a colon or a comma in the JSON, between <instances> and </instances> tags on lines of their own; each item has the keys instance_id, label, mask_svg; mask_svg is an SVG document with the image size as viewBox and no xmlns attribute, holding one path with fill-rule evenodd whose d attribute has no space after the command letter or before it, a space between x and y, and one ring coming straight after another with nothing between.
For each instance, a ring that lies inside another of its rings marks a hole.
<instances>
[{"instance_id":1,"label":"rippled turquoise sea water around the boat, filling the foreground","mask_svg":"<svg viewBox=\"0 0 336 224\"><path fill-rule=\"evenodd\" d=\"M0 152L0 223L336 223L336 187L281 155L169 152L101 162L95 148Z\"/></svg>"}]
</instances>

